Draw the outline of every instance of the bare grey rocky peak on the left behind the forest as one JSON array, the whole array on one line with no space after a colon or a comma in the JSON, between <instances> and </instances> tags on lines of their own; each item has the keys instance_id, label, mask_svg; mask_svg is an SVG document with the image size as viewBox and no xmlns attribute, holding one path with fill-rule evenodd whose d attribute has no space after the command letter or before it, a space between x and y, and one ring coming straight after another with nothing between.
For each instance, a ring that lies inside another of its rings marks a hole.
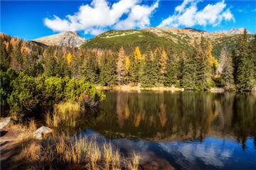
<instances>
[{"instance_id":1,"label":"bare grey rocky peak on the left behind the forest","mask_svg":"<svg viewBox=\"0 0 256 170\"><path fill-rule=\"evenodd\" d=\"M79 47L85 42L78 33L68 31L63 33L58 33L55 35L49 35L42 38L36 38L33 41L41 42L45 45L63 45L63 46L75 46Z\"/></svg>"}]
</instances>

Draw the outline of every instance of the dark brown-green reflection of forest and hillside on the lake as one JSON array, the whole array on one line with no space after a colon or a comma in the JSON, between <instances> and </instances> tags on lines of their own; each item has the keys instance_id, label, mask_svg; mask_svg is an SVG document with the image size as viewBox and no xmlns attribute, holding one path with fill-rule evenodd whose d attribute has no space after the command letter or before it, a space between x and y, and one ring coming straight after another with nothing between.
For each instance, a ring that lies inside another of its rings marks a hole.
<instances>
[{"instance_id":1,"label":"dark brown-green reflection of forest and hillside on the lake","mask_svg":"<svg viewBox=\"0 0 256 170\"><path fill-rule=\"evenodd\" d=\"M91 129L110 139L170 142L218 137L237 140L246 149L247 138L256 137L252 94L107 91L101 111L104 116Z\"/></svg>"}]
</instances>

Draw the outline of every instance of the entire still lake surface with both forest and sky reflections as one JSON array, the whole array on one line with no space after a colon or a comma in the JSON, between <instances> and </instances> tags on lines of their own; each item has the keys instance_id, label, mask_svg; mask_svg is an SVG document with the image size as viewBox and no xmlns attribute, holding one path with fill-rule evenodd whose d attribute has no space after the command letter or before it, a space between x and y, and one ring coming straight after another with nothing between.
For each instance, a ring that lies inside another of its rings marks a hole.
<instances>
[{"instance_id":1,"label":"entire still lake surface with both forest and sky reflections","mask_svg":"<svg viewBox=\"0 0 256 170\"><path fill-rule=\"evenodd\" d=\"M151 169L256 169L256 96L107 91L80 135L134 152Z\"/></svg>"}]
</instances>

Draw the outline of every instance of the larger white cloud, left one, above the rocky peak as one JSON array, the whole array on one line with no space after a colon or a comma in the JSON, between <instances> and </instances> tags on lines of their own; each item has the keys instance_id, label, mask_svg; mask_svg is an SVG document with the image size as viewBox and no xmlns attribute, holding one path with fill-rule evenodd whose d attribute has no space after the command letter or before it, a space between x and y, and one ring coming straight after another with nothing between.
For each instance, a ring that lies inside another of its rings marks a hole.
<instances>
[{"instance_id":1,"label":"larger white cloud, left one, above the rocky peak","mask_svg":"<svg viewBox=\"0 0 256 170\"><path fill-rule=\"evenodd\" d=\"M120 0L110 5L107 0L93 0L80 6L79 11L61 19L58 16L45 18L45 25L54 31L84 30L86 34L97 35L106 28L144 28L150 25L150 16L158 7L141 5L140 0ZM127 15L127 18L122 16Z\"/></svg>"}]
</instances>

